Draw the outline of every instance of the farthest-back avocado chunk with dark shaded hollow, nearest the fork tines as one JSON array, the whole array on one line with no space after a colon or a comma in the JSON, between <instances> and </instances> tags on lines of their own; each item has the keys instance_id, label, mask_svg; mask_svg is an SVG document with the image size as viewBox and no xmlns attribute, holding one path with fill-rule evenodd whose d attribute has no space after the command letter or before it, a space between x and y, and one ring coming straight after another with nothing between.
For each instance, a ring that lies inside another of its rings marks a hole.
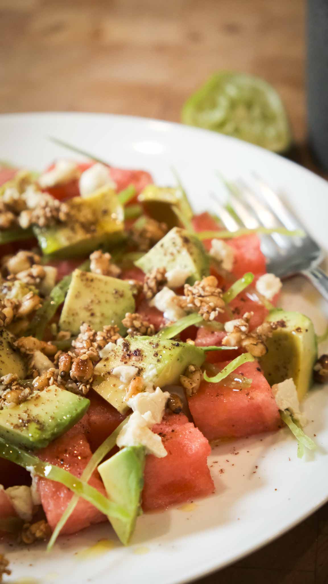
<instances>
[{"instance_id":1,"label":"farthest-back avocado chunk with dark shaded hollow, nearest the fork tines","mask_svg":"<svg viewBox=\"0 0 328 584\"><path fill-rule=\"evenodd\" d=\"M139 194L138 201L143 203L151 217L157 221L164 221L168 227L180 224L174 207L177 207L187 220L190 220L193 215L192 208L181 187L147 185Z\"/></svg>"}]
</instances>

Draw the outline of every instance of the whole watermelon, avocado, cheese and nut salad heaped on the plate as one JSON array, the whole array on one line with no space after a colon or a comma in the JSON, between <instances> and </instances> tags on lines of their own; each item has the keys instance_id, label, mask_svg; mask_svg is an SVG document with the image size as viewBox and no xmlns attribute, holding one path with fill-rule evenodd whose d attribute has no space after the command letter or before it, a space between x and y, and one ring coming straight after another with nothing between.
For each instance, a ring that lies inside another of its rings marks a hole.
<instances>
[{"instance_id":1,"label":"whole watermelon, avocado, cheese and nut salad heaped on the plate","mask_svg":"<svg viewBox=\"0 0 328 584\"><path fill-rule=\"evenodd\" d=\"M140 513L214 492L221 440L287 425L315 448L300 402L328 357L258 234L96 161L0 185L2 538L108 522L126 545Z\"/></svg>"}]
</instances>

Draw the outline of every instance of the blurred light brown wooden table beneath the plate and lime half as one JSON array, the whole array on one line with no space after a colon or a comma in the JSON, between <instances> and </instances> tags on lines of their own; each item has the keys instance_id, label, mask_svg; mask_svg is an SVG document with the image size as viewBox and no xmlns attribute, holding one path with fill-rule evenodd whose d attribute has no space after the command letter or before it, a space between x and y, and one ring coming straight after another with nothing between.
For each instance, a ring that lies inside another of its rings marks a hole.
<instances>
[{"instance_id":1,"label":"blurred light brown wooden table beneath the plate and lime half","mask_svg":"<svg viewBox=\"0 0 328 584\"><path fill-rule=\"evenodd\" d=\"M0 111L179 120L204 79L236 69L277 88L309 164L304 20L303 0L0 0ZM201 582L327 584L328 506Z\"/></svg>"}]
</instances>

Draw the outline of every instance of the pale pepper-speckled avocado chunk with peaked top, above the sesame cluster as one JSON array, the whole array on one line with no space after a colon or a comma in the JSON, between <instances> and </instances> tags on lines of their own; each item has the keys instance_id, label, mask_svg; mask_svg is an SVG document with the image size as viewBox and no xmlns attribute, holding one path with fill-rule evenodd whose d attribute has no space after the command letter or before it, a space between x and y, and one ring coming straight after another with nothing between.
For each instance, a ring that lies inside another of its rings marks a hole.
<instances>
[{"instance_id":1,"label":"pale pepper-speckled avocado chunk with peaked top, above the sesame cluster","mask_svg":"<svg viewBox=\"0 0 328 584\"><path fill-rule=\"evenodd\" d=\"M167 272L175 268L188 270L191 274L186 280L194 284L209 275L209 260L203 244L196 235L174 227L163 239L158 241L142 258L135 262L144 272L150 272L156 267L165 267Z\"/></svg>"}]
</instances>

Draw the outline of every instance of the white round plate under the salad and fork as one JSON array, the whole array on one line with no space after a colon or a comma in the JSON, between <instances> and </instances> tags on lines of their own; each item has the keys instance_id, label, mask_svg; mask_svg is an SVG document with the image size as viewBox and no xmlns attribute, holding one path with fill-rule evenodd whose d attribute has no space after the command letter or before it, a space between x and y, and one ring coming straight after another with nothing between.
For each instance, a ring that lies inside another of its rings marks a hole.
<instances>
[{"instance_id":1,"label":"white round plate under the salad and fork","mask_svg":"<svg viewBox=\"0 0 328 584\"><path fill-rule=\"evenodd\" d=\"M115 166L147 169L162 185L174 184L174 165L196 211L211 208L211 191L224 196L217 171L233 177L257 170L271 186L284 190L309 232L328 249L325 180L246 142L163 121L71 113L1 116L0 135L0 159L36 169L56 157L76 158L48 141L48 135ZM311 286L297 278L285 288L284 306L301 308L322 332L327 307ZM319 444L305 460L298 460L287 430L225 443L209 459L215 495L140 517L128 548L89 550L100 538L116 541L107 524L60 538L49 555L43 545L19 552L8 548L12 580L177 584L222 568L279 536L328 499L327 389L313 390L304 404L313 420L306 432L316 434Z\"/></svg>"}]
</instances>

